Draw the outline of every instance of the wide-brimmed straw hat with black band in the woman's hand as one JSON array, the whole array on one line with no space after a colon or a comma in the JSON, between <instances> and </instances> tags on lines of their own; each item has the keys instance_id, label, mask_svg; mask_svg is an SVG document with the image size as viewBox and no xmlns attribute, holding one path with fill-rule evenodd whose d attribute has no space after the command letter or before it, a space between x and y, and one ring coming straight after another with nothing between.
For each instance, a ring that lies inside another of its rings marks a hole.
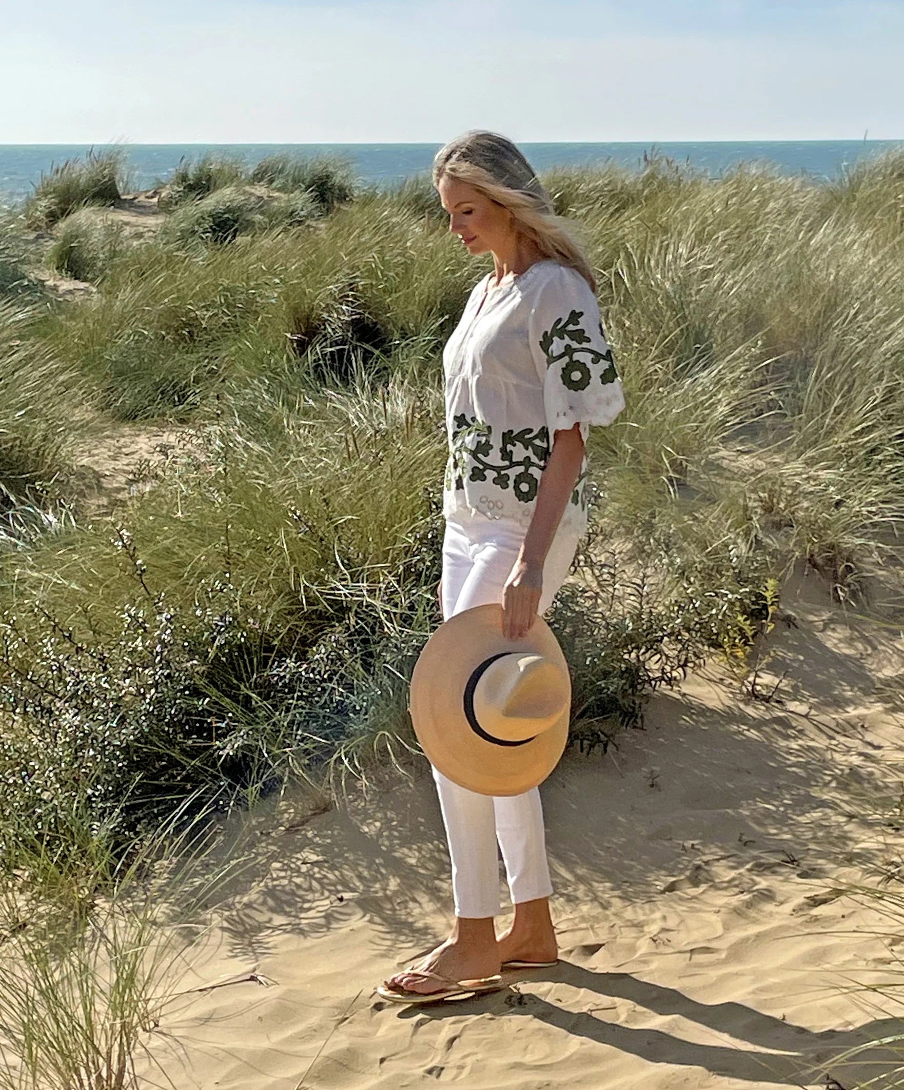
<instances>
[{"instance_id":1,"label":"wide-brimmed straw hat with black band in the woman's hand","mask_svg":"<svg viewBox=\"0 0 904 1090\"><path fill-rule=\"evenodd\" d=\"M480 795L521 795L541 784L568 738L571 678L539 615L507 640L503 607L444 621L411 675L408 711L431 764Z\"/></svg>"}]
</instances>

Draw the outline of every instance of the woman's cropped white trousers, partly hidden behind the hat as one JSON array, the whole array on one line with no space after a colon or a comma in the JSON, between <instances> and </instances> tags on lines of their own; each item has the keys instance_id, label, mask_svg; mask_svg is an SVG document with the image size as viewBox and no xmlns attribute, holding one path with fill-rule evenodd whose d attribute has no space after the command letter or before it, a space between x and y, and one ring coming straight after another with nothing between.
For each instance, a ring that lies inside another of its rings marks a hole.
<instances>
[{"instance_id":1,"label":"woman's cropped white trousers, partly hidden behind the hat","mask_svg":"<svg viewBox=\"0 0 904 1090\"><path fill-rule=\"evenodd\" d=\"M525 530L509 519L456 513L446 520L443 538L443 618L472 606L502 604ZM543 565L543 592L538 613L544 614L562 586L575 556L579 534L556 533ZM437 768L433 778L446 826L451 859L455 915L497 916L498 839L513 905L553 892L546 862L543 810L537 787L523 795L479 795L459 787Z\"/></svg>"}]
</instances>

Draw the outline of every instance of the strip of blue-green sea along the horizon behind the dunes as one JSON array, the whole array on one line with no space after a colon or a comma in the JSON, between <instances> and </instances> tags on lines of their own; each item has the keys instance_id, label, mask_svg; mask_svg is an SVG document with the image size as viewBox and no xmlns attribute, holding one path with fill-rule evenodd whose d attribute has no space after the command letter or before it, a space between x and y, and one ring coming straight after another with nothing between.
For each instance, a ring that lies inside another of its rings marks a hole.
<instances>
[{"instance_id":1,"label":"strip of blue-green sea along the horizon behind the dunes","mask_svg":"<svg viewBox=\"0 0 904 1090\"><path fill-rule=\"evenodd\" d=\"M109 145L94 145L101 150ZM125 144L126 190L150 189L166 181L181 158L196 159L205 153L238 156L255 164L264 156L287 152L302 156L323 153L347 157L363 182L391 185L413 174L427 172L438 144ZM902 141L772 141L757 143L632 143L632 144L529 144L519 145L538 171L551 167L584 166L614 161L639 169L644 153L666 155L718 178L740 162L768 162L785 174L806 173L818 179L837 175L858 160L887 148L904 147ZM0 201L15 204L27 196L55 164L82 158L87 144L0 144Z\"/></svg>"}]
</instances>

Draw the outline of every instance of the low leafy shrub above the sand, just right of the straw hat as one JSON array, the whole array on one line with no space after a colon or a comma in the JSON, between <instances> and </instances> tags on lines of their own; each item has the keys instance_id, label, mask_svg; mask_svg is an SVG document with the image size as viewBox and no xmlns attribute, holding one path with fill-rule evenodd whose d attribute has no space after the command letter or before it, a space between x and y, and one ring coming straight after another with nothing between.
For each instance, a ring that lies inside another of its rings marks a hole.
<instances>
[{"instance_id":1,"label":"low leafy shrub above the sand, just right of the straw hat","mask_svg":"<svg viewBox=\"0 0 904 1090\"><path fill-rule=\"evenodd\" d=\"M648 523L649 536L641 532L619 556L613 529L605 516L593 520L575 561L580 578L563 585L546 618L572 670L569 742L582 752L605 752L618 730L640 722L652 692L714 653L744 659L771 593L763 554L683 555Z\"/></svg>"}]
</instances>

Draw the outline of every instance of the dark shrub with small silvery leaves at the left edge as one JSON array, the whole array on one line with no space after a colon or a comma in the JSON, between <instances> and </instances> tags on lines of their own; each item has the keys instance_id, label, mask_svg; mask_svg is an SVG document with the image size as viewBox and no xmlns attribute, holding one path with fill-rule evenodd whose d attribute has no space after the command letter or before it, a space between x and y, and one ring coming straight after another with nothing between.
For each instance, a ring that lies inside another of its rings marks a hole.
<instances>
[{"instance_id":1,"label":"dark shrub with small silvery leaves at the left edge","mask_svg":"<svg viewBox=\"0 0 904 1090\"><path fill-rule=\"evenodd\" d=\"M125 531L122 541L130 546ZM8 619L0 633L0 784L12 810L29 814L36 840L62 847L82 825L105 829L109 846L122 848L205 779L214 797L241 779L234 762L218 760L226 724L207 712L196 683L232 633L232 617L215 597L190 618L161 598L126 604L108 645L80 643L39 613L27 628ZM41 630L23 669L23 647ZM22 846L9 837L0 823L0 861L12 869Z\"/></svg>"}]
</instances>

